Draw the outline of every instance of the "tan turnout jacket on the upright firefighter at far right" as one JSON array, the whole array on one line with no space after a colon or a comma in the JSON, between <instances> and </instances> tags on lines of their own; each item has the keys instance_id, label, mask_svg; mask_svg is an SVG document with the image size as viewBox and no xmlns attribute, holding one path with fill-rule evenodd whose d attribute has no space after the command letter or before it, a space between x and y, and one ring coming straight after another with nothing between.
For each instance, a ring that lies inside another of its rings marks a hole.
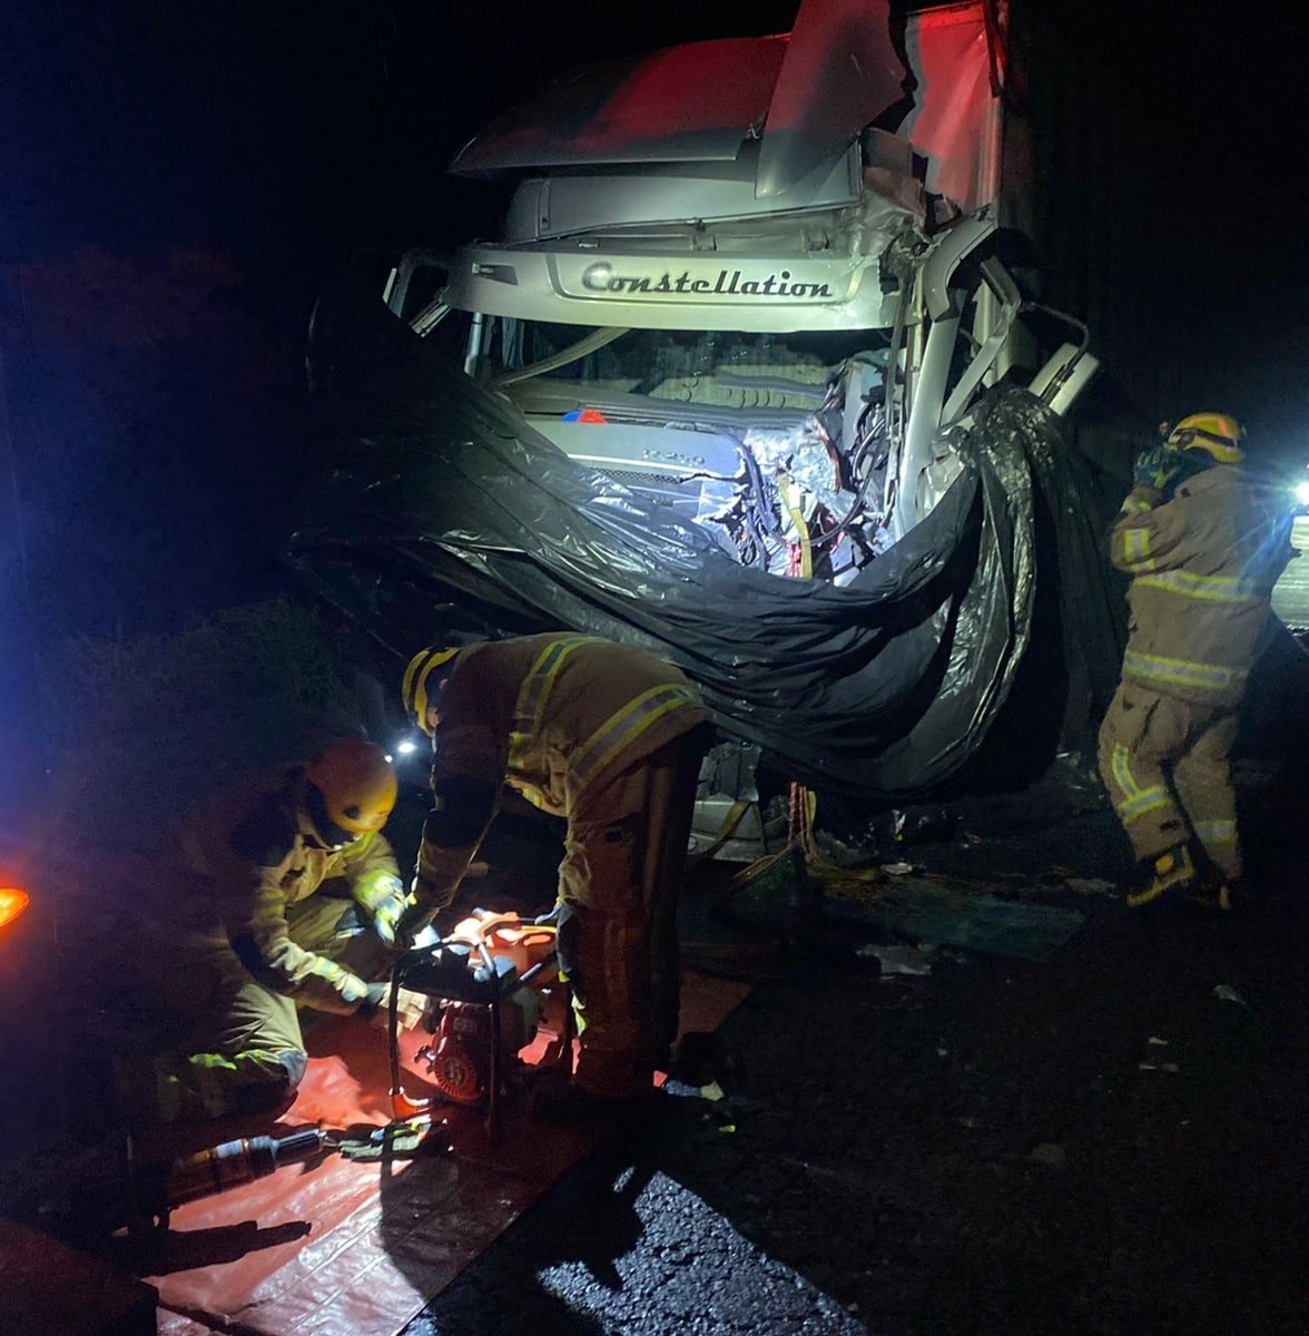
<instances>
[{"instance_id":1,"label":"tan turnout jacket on the upright firefighter at far right","mask_svg":"<svg viewBox=\"0 0 1309 1336\"><path fill-rule=\"evenodd\" d=\"M1110 538L1131 576L1122 679L1194 704L1240 703L1288 540L1260 489L1216 465L1171 497L1134 489Z\"/></svg>"}]
</instances>

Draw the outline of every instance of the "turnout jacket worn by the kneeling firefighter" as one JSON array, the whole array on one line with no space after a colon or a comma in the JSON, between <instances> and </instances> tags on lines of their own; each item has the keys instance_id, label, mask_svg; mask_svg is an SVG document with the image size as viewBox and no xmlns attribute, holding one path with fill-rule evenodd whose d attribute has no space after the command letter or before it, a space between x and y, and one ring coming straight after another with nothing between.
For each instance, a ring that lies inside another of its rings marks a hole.
<instances>
[{"instance_id":1,"label":"turnout jacket worn by the kneeling firefighter","mask_svg":"<svg viewBox=\"0 0 1309 1336\"><path fill-rule=\"evenodd\" d=\"M293 938L291 908L341 878L365 911L401 887L390 843L379 832L325 848L297 804L303 770L282 771L219 798L182 830L178 871L187 887L182 918L194 931L224 935L242 965L270 991L321 1011L353 1013L367 985ZM349 900L341 900L342 914Z\"/></svg>"}]
</instances>

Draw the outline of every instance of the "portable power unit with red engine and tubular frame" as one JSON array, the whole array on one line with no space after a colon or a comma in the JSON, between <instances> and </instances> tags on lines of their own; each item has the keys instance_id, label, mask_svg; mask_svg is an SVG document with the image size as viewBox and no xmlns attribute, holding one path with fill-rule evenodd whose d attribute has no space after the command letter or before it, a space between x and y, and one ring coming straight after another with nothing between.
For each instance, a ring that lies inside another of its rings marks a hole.
<instances>
[{"instance_id":1,"label":"portable power unit with red engine and tubular frame","mask_svg":"<svg viewBox=\"0 0 1309 1336\"><path fill-rule=\"evenodd\" d=\"M391 971L391 1113L411 1120L434 1102L484 1106L489 1130L497 1105L526 1063L521 1051L536 1038L541 990L562 983L557 969L556 929L548 921L524 923L517 914L474 912L433 945L407 951ZM414 1098L405 1090L397 1021L397 990L427 995L422 1027L431 1035L414 1053L437 1096ZM538 1067L572 1069L573 1009L564 986L562 1023Z\"/></svg>"}]
</instances>

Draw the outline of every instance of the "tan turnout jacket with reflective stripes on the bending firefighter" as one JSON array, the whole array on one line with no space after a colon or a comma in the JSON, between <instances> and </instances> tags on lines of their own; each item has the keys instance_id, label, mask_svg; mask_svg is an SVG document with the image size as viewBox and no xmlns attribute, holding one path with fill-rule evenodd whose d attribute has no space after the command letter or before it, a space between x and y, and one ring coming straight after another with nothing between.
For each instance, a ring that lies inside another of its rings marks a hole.
<instances>
[{"instance_id":1,"label":"tan turnout jacket with reflective stripes on the bending firefighter","mask_svg":"<svg viewBox=\"0 0 1309 1336\"><path fill-rule=\"evenodd\" d=\"M549 632L461 649L441 695L418 876L450 902L504 786L569 818L707 719L679 668L632 645Z\"/></svg>"}]
</instances>

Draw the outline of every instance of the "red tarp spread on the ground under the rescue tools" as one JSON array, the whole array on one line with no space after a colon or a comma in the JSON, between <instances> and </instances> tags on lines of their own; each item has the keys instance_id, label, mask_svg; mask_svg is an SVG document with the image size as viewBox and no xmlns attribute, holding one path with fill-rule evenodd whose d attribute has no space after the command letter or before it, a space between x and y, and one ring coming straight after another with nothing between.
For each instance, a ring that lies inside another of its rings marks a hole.
<instances>
[{"instance_id":1,"label":"red tarp spread on the ground under the rescue tools","mask_svg":"<svg viewBox=\"0 0 1309 1336\"><path fill-rule=\"evenodd\" d=\"M713 1030L749 985L687 974L683 1030ZM425 1037L425 1035L423 1035ZM542 1034L528 1061L537 1061ZM423 1094L422 1067L401 1046L405 1086ZM311 1031L309 1073L272 1126L366 1132L390 1120L382 1031L333 1018ZM442 1106L450 1149L413 1158L346 1160L326 1153L270 1177L178 1208L148 1281L159 1291L159 1332L210 1336L393 1336L597 1145L594 1132L544 1128L512 1101L494 1140L481 1112ZM208 1134L204 1145L224 1140ZM196 1146L199 1142L196 1142ZM184 1152L186 1146L175 1150Z\"/></svg>"}]
</instances>

